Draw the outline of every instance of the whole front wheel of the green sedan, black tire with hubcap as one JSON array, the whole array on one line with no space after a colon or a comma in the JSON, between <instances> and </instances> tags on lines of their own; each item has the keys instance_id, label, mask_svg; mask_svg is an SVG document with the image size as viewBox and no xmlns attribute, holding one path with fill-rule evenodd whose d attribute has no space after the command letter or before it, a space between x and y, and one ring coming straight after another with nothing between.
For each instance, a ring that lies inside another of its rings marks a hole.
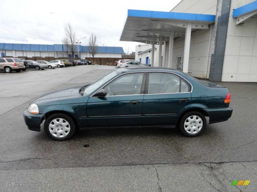
<instances>
[{"instance_id":1,"label":"whole front wheel of the green sedan, black tire with hubcap","mask_svg":"<svg viewBox=\"0 0 257 192\"><path fill-rule=\"evenodd\" d=\"M65 128L67 130L65 130ZM68 115L61 114L61 113L57 113L49 116L45 120L44 130L45 130L45 133L51 139L57 140L57 141L64 141L71 138L76 131L74 121ZM52 131L52 133L50 132L50 130ZM67 135L65 136L64 134L67 134Z\"/></svg>"}]
</instances>

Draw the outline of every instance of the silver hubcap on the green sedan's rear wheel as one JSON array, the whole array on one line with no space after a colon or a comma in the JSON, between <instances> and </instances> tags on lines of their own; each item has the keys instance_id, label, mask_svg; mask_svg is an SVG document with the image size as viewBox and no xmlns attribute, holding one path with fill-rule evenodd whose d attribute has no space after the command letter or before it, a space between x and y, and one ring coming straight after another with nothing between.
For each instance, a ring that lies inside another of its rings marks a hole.
<instances>
[{"instance_id":1,"label":"silver hubcap on the green sedan's rear wheel","mask_svg":"<svg viewBox=\"0 0 257 192\"><path fill-rule=\"evenodd\" d=\"M190 134L198 133L203 127L203 120L197 116L189 116L184 122L184 129Z\"/></svg>"}]
</instances>

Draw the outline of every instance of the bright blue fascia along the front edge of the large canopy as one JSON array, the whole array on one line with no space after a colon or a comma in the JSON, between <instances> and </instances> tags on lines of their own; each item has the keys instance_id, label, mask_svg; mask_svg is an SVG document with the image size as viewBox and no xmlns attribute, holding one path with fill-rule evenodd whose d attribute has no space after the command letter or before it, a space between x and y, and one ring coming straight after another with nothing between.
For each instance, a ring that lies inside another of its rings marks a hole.
<instances>
[{"instance_id":1,"label":"bright blue fascia along the front edge of the large canopy","mask_svg":"<svg viewBox=\"0 0 257 192\"><path fill-rule=\"evenodd\" d=\"M145 18L179 19L179 20L188 20L188 21L215 22L215 15L146 11L146 10L134 10L134 9L128 9L128 17L145 17Z\"/></svg>"}]
</instances>

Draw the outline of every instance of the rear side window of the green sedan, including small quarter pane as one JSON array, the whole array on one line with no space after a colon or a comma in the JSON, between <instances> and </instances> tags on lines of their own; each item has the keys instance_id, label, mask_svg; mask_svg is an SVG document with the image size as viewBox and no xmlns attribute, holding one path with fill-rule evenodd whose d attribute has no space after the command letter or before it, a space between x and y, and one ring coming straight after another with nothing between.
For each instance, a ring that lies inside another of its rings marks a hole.
<instances>
[{"instance_id":1,"label":"rear side window of the green sedan, including small quarter pane","mask_svg":"<svg viewBox=\"0 0 257 192\"><path fill-rule=\"evenodd\" d=\"M188 83L170 73L149 73L148 94L189 92Z\"/></svg>"}]
</instances>

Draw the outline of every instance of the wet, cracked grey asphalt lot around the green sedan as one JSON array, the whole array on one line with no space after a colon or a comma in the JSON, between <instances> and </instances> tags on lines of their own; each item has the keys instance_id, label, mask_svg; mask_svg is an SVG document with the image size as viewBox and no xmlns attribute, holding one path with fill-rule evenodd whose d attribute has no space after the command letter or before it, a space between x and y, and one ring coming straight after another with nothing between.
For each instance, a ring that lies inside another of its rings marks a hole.
<instances>
[{"instance_id":1,"label":"wet, cracked grey asphalt lot around the green sedan","mask_svg":"<svg viewBox=\"0 0 257 192\"><path fill-rule=\"evenodd\" d=\"M135 127L89 129L57 142L42 127L41 132L27 129L23 111L31 100L91 83L112 70L76 66L0 72L1 191L256 191L257 83L220 82L232 95L232 117L208 124L194 138L176 129ZM231 186L233 180L250 183Z\"/></svg>"}]
</instances>

